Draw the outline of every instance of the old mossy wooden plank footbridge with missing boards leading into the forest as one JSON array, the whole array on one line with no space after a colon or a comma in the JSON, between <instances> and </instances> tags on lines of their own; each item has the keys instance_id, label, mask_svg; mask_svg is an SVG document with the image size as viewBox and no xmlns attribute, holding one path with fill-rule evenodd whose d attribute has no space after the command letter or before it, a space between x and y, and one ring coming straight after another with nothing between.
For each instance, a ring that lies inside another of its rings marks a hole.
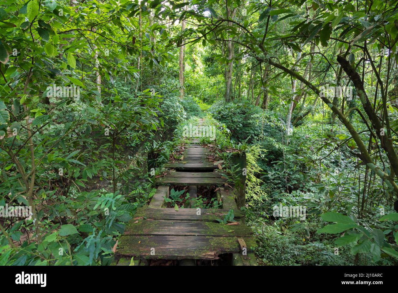
<instances>
[{"instance_id":1,"label":"old mossy wooden plank footbridge with missing boards leading into the forest","mask_svg":"<svg viewBox=\"0 0 398 293\"><path fill-rule=\"evenodd\" d=\"M156 194L119 239L117 265L257 265L256 242L236 205L233 184L209 155L214 154L192 139L182 160L164 166L167 173L157 178ZM222 208L167 207L165 198L176 186L188 187L190 199L197 197L198 188L213 187ZM231 209L234 222L220 223Z\"/></svg>"}]
</instances>

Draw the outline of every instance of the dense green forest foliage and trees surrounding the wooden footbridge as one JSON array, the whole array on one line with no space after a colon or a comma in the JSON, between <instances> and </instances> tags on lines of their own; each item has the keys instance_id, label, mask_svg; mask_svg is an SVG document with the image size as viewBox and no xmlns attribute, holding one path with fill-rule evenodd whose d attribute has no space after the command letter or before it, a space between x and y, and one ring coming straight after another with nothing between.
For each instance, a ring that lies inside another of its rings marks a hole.
<instances>
[{"instance_id":1,"label":"dense green forest foliage and trees surrounding the wooden footbridge","mask_svg":"<svg viewBox=\"0 0 398 293\"><path fill-rule=\"evenodd\" d=\"M260 264L397 265L397 3L0 0L0 264L111 264L200 117Z\"/></svg>"}]
</instances>

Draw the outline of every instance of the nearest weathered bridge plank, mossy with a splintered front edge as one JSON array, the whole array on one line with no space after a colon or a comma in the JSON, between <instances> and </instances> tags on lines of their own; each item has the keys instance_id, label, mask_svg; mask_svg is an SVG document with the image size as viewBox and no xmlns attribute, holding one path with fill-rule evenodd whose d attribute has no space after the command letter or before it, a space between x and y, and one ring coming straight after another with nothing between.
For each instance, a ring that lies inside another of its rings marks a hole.
<instances>
[{"instance_id":1,"label":"nearest weathered bridge plank, mossy with a splintered front edge","mask_svg":"<svg viewBox=\"0 0 398 293\"><path fill-rule=\"evenodd\" d=\"M255 246L253 238L245 239ZM250 247L248 247L248 250ZM117 253L146 259L208 259L217 260L219 254L238 253L235 237L213 236L127 236L119 238Z\"/></svg>"}]
</instances>

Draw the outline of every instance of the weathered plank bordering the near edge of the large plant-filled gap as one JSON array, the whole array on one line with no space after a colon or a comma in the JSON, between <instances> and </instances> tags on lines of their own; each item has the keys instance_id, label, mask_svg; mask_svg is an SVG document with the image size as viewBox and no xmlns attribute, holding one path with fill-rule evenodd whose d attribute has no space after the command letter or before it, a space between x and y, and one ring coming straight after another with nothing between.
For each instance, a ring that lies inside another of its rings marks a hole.
<instances>
[{"instance_id":1,"label":"weathered plank bordering the near edge of the large plant-filled gap","mask_svg":"<svg viewBox=\"0 0 398 293\"><path fill-rule=\"evenodd\" d=\"M152 220L187 220L216 222L217 219L223 219L229 210L223 208L180 208L178 211L174 208L139 208L134 215L133 220L152 219ZM240 210L234 210L236 219L242 218L244 213Z\"/></svg>"}]
</instances>

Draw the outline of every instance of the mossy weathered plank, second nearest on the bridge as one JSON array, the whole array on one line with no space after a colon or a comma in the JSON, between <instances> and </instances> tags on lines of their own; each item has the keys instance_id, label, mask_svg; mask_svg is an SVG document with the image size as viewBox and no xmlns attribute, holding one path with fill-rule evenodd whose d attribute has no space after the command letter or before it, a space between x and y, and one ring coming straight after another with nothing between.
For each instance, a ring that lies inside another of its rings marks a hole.
<instances>
[{"instance_id":1,"label":"mossy weathered plank, second nearest on the bridge","mask_svg":"<svg viewBox=\"0 0 398 293\"><path fill-rule=\"evenodd\" d=\"M169 236L223 236L242 239L253 235L245 225L223 225L201 221L133 220L125 229L125 235L169 235Z\"/></svg>"}]
</instances>

